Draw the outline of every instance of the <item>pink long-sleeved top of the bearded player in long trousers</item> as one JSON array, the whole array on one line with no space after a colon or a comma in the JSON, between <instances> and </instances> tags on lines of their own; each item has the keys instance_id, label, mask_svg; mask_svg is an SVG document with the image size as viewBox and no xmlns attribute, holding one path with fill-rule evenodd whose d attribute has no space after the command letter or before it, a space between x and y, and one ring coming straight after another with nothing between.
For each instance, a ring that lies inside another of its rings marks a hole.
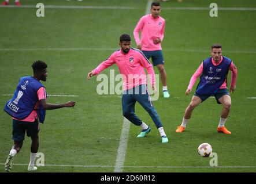
<instances>
[{"instance_id":1,"label":"pink long-sleeved top of the bearded player in long trousers","mask_svg":"<svg viewBox=\"0 0 256 184\"><path fill-rule=\"evenodd\" d=\"M120 74L123 75L123 90L147 84L147 75L144 68L149 74L151 85L155 85L155 72L152 64L143 55L142 51L135 48L131 48L128 53L124 53L121 49L113 52L107 60L99 64L92 72L99 74L115 63L120 70Z\"/></svg>"}]
</instances>

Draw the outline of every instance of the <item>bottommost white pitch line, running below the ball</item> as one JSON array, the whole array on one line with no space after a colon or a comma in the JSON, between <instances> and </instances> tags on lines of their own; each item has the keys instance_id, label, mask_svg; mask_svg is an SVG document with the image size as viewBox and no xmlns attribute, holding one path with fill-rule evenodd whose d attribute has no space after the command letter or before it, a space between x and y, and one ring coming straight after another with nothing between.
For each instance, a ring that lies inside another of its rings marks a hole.
<instances>
[{"instance_id":1,"label":"bottommost white pitch line, running below the ball","mask_svg":"<svg viewBox=\"0 0 256 184\"><path fill-rule=\"evenodd\" d=\"M0 165L5 165L4 163L0 163ZM28 166L28 164L24 163L13 163L14 166ZM44 166L39 167L116 167L116 166L84 166L84 165L66 165L66 164L44 164ZM256 168L256 166L123 166L124 168Z\"/></svg>"}]
</instances>

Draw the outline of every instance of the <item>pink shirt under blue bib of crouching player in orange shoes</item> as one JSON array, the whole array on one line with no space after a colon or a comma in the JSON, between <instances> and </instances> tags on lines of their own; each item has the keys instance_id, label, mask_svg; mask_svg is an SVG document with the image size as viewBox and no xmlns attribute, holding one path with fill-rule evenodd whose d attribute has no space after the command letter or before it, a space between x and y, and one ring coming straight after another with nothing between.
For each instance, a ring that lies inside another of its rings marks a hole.
<instances>
[{"instance_id":1,"label":"pink shirt under blue bib of crouching player in orange shoes","mask_svg":"<svg viewBox=\"0 0 256 184\"><path fill-rule=\"evenodd\" d=\"M216 63L215 60L212 58L212 63L214 66L218 66L219 64L221 64L223 60L223 57L221 56L221 60L220 62ZM231 62L231 65L229 66L229 70L231 70L231 86L235 86L236 85L236 75L238 73L238 70L236 69L235 64L233 64L233 62ZM202 74L203 72L203 63L201 63L201 65L197 68L197 70L195 71L195 74L192 75L191 79L190 79L190 84L188 85L188 89L192 89L192 87L195 85L196 80L198 79L198 77ZM224 83L222 83L220 89L227 89L227 79L224 81Z\"/></svg>"}]
</instances>

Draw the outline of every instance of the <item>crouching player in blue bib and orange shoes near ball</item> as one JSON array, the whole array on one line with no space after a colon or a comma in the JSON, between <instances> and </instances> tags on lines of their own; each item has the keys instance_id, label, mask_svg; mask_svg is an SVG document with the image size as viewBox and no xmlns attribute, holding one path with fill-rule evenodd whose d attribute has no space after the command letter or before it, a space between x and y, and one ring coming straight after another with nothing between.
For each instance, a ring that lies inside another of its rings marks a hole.
<instances>
[{"instance_id":1,"label":"crouching player in blue bib and orange shoes near ball","mask_svg":"<svg viewBox=\"0 0 256 184\"><path fill-rule=\"evenodd\" d=\"M202 64L190 79L190 84L185 91L186 95L190 94L196 79L200 76L200 82L196 87L195 94L191 99L190 105L188 105L185 110L182 124L177 127L176 132L180 133L185 131L187 122L191 118L192 111L196 106L214 95L217 103L222 104L223 106L217 131L225 134L231 134L231 132L225 127L225 121L227 120L231 109L231 97L227 87L227 76L228 71L231 70L231 87L229 91L233 93L236 89L237 69L231 59L222 56L221 44L212 45L211 55L212 57L203 60Z\"/></svg>"}]
</instances>

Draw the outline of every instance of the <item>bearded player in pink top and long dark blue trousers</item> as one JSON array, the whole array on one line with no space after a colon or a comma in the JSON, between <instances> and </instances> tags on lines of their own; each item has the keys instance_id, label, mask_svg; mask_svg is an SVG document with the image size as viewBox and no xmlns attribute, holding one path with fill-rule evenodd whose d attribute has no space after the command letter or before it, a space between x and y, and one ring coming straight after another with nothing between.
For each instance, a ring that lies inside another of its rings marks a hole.
<instances>
[{"instance_id":1,"label":"bearded player in pink top and long dark blue trousers","mask_svg":"<svg viewBox=\"0 0 256 184\"><path fill-rule=\"evenodd\" d=\"M97 68L88 73L87 79L91 76L99 74L101 71L117 64L120 73L123 75L123 96L122 96L122 108L123 116L131 121L133 124L140 126L142 131L137 137L145 137L150 132L150 127L144 123L135 114L135 103L139 102L140 105L149 113L155 126L158 128L162 143L167 143L168 138L164 132L162 122L155 110L149 93L147 91L147 75L144 71L146 68L152 89L155 89L155 74L153 66L138 49L131 48L131 37L128 34L122 34L120 36L121 49L112 53L112 55L99 64Z\"/></svg>"}]
</instances>

